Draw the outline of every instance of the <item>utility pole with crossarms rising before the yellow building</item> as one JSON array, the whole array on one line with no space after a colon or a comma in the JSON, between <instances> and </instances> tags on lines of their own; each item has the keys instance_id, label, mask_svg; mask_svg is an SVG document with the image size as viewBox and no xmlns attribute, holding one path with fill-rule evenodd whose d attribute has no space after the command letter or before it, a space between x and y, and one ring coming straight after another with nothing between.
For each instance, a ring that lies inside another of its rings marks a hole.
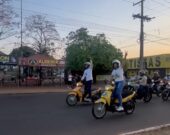
<instances>
[{"instance_id":1,"label":"utility pole with crossarms rising before the yellow building","mask_svg":"<svg viewBox=\"0 0 170 135\"><path fill-rule=\"evenodd\" d=\"M140 70L144 69L144 21L151 21L152 19L154 19L155 17L148 17L148 16L144 16L144 1L145 0L141 0L137 3L134 3L133 6L136 6L138 4L141 4L141 13L140 14L134 14L133 18L136 19L140 19L141 21L141 26L140 26Z\"/></svg>"}]
</instances>

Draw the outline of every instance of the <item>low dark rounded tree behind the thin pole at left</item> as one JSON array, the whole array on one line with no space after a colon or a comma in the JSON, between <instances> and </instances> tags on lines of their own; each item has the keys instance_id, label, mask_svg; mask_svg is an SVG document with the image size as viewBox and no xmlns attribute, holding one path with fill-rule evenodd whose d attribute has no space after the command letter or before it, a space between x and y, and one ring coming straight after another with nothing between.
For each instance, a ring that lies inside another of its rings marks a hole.
<instances>
[{"instance_id":1,"label":"low dark rounded tree behind the thin pole at left","mask_svg":"<svg viewBox=\"0 0 170 135\"><path fill-rule=\"evenodd\" d=\"M10 56L14 57L18 61L18 58L21 57L21 51L22 51L23 57L29 57L35 54L34 49L28 46L23 46L22 48L19 47L19 48L13 49L12 52L10 53Z\"/></svg>"}]
</instances>

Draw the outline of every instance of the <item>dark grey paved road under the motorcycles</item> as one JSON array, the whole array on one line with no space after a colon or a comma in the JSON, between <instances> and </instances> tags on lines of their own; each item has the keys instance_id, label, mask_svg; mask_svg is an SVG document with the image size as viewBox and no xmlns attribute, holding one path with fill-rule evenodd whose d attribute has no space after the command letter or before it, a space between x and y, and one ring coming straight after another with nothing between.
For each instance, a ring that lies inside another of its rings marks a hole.
<instances>
[{"instance_id":1,"label":"dark grey paved road under the motorcycles","mask_svg":"<svg viewBox=\"0 0 170 135\"><path fill-rule=\"evenodd\" d=\"M109 113L102 120L90 105L65 104L64 93L0 95L0 135L117 135L170 123L170 102L137 103L133 115Z\"/></svg>"}]
</instances>

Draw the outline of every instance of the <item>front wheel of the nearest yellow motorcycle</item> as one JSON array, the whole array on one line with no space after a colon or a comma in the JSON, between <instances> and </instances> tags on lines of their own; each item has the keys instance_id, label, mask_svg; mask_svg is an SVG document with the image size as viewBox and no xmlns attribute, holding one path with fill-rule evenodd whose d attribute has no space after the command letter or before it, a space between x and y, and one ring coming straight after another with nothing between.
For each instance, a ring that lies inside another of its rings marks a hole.
<instances>
[{"instance_id":1,"label":"front wheel of the nearest yellow motorcycle","mask_svg":"<svg viewBox=\"0 0 170 135\"><path fill-rule=\"evenodd\" d=\"M102 119L106 115L106 105L104 103L93 104L92 115L96 119Z\"/></svg>"}]
</instances>

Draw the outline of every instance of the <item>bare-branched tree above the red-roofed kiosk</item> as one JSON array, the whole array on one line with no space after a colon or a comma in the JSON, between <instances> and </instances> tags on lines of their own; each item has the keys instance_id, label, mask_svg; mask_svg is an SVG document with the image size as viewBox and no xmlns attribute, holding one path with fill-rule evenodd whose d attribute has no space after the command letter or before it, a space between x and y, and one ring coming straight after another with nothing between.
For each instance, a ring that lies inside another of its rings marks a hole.
<instances>
[{"instance_id":1,"label":"bare-branched tree above the red-roofed kiosk","mask_svg":"<svg viewBox=\"0 0 170 135\"><path fill-rule=\"evenodd\" d=\"M55 24L48 21L45 16L32 15L26 18L25 36L37 53L51 54L55 52L55 42L59 40L59 34Z\"/></svg>"}]
</instances>

